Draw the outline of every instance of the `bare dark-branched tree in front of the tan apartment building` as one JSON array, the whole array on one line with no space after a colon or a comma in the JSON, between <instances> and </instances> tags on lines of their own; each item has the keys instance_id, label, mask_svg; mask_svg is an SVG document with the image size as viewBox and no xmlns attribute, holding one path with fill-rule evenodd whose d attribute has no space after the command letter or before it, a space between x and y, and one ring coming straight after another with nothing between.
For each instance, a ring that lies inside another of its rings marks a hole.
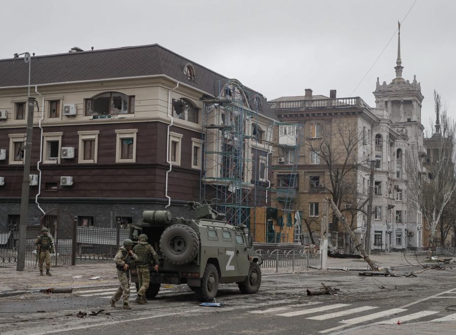
<instances>
[{"instance_id":1,"label":"bare dark-branched tree in front of the tan apartment building","mask_svg":"<svg viewBox=\"0 0 456 335\"><path fill-rule=\"evenodd\" d=\"M357 122L350 119L335 118L321 129L319 138L307 138L311 155L318 157L329 173L329 185L325 189L339 210L344 203L352 203L356 194L356 173L360 165L366 164L358 159L358 145L362 143L363 134ZM347 198L347 199L346 199ZM332 217L332 229L338 230L338 219Z\"/></svg>"}]
</instances>

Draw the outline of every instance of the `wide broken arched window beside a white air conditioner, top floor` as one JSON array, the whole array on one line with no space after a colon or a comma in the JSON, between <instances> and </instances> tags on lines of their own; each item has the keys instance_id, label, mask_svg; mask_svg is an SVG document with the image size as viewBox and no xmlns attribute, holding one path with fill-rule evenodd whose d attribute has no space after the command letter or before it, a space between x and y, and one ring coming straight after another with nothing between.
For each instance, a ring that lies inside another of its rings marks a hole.
<instances>
[{"instance_id":1,"label":"wide broken arched window beside a white air conditioner, top floor","mask_svg":"<svg viewBox=\"0 0 456 335\"><path fill-rule=\"evenodd\" d=\"M86 116L129 114L135 111L135 97L105 92L86 99Z\"/></svg>"}]
</instances>

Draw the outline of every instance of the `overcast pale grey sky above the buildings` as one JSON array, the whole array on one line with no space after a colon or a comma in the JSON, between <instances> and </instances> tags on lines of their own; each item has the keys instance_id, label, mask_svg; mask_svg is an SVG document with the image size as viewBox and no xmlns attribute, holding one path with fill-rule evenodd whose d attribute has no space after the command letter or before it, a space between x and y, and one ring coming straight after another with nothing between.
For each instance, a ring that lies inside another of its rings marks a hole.
<instances>
[{"instance_id":1,"label":"overcast pale grey sky above the buildings","mask_svg":"<svg viewBox=\"0 0 456 335\"><path fill-rule=\"evenodd\" d=\"M269 100L348 97L414 0L16 1L2 2L0 58L158 43ZM403 78L421 82L423 124L433 90L456 106L456 1L417 0L401 26ZM376 78L395 77L397 35L351 96L375 106ZM32 65L33 66L33 65ZM32 68L33 70L33 68ZM451 113L452 114L452 113Z\"/></svg>"}]
</instances>

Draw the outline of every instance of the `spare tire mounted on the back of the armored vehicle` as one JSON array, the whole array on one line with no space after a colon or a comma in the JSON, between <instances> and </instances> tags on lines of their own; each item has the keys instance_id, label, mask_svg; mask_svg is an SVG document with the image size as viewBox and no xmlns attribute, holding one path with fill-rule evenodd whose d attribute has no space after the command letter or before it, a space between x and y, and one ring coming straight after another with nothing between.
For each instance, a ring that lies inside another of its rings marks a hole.
<instances>
[{"instance_id":1,"label":"spare tire mounted on the back of the armored vehicle","mask_svg":"<svg viewBox=\"0 0 456 335\"><path fill-rule=\"evenodd\" d=\"M160 237L160 250L172 264L187 264L198 254L198 235L191 227L172 225Z\"/></svg>"}]
</instances>

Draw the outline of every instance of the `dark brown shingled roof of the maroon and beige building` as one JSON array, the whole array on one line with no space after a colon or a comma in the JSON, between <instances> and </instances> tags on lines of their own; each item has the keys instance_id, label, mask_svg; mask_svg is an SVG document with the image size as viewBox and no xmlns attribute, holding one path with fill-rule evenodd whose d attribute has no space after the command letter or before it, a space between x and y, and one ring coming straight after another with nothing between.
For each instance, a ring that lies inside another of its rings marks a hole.
<instances>
[{"instance_id":1,"label":"dark brown shingled roof of the maroon and beige building","mask_svg":"<svg viewBox=\"0 0 456 335\"><path fill-rule=\"evenodd\" d=\"M187 63L195 69L195 81L185 78L183 70ZM219 87L229 80L158 44L31 57L31 85L150 75L166 75L213 96L217 96ZM25 86L27 83L28 66L22 59L0 60L0 89ZM250 98L256 94L260 97L260 114L277 120L261 94L247 87L245 89Z\"/></svg>"}]
</instances>

